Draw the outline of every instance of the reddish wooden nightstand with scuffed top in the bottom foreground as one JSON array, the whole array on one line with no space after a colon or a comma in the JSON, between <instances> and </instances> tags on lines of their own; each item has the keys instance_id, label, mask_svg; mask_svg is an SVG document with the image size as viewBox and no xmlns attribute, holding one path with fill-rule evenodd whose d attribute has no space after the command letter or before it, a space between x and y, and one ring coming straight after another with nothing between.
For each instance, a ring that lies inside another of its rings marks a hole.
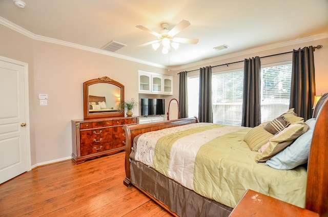
<instances>
[{"instance_id":1,"label":"reddish wooden nightstand with scuffed top in the bottom foreground","mask_svg":"<svg viewBox=\"0 0 328 217\"><path fill-rule=\"evenodd\" d=\"M281 217L306 216L319 217L318 213L308 209L274 199L262 193L248 189L237 206L232 210L230 217Z\"/></svg>"}]
</instances>

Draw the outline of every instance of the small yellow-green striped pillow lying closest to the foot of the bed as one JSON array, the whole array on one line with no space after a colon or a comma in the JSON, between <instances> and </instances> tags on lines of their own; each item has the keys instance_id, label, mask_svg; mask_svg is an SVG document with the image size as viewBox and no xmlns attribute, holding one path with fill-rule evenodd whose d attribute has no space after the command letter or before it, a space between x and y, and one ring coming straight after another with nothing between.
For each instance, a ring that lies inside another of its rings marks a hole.
<instances>
[{"instance_id":1,"label":"small yellow-green striped pillow lying closest to the foot of the bed","mask_svg":"<svg viewBox=\"0 0 328 217\"><path fill-rule=\"evenodd\" d=\"M261 125L252 128L244 137L244 141L251 150L257 151L263 144L273 137L271 133L265 131Z\"/></svg>"}]
</instances>

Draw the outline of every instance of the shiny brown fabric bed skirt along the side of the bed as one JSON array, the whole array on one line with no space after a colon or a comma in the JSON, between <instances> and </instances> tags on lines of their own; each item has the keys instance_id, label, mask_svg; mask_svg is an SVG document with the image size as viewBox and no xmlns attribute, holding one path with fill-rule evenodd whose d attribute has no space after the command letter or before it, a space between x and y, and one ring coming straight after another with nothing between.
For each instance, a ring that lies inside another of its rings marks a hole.
<instances>
[{"instance_id":1,"label":"shiny brown fabric bed skirt along the side of the bed","mask_svg":"<svg viewBox=\"0 0 328 217\"><path fill-rule=\"evenodd\" d=\"M183 187L163 176L151 167L132 160L130 163L131 183L149 192L155 199L166 204L179 216L227 217L231 207L204 198L195 191Z\"/></svg>"}]
</instances>

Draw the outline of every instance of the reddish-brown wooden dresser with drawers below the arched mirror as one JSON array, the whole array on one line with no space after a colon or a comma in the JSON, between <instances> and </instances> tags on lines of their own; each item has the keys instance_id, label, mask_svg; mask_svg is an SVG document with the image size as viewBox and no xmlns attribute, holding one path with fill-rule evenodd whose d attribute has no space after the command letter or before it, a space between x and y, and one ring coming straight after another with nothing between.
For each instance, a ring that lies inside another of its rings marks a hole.
<instances>
[{"instance_id":1,"label":"reddish-brown wooden dresser with drawers below the arched mirror","mask_svg":"<svg viewBox=\"0 0 328 217\"><path fill-rule=\"evenodd\" d=\"M138 124L138 117L72 120L72 160L78 164L125 150L125 124Z\"/></svg>"}]
</instances>

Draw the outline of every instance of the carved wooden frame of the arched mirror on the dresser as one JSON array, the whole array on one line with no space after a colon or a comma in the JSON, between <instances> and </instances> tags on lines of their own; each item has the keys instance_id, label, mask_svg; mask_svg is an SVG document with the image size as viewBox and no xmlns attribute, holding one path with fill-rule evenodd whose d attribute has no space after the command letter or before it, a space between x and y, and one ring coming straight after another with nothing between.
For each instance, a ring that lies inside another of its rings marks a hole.
<instances>
[{"instance_id":1,"label":"carved wooden frame of the arched mirror on the dresser","mask_svg":"<svg viewBox=\"0 0 328 217\"><path fill-rule=\"evenodd\" d=\"M84 119L92 119L92 118L111 118L111 117L124 117L124 109L120 106L117 107L116 110L112 111L101 111L101 112L90 112L89 111L89 86L98 83L107 83L108 85L114 85L120 90L120 96L117 96L117 104L120 105L124 102L124 85L107 77L96 78L92 80L88 80L83 83L83 107L84 107ZM109 86L110 87L110 86ZM109 88L110 89L110 88ZM104 93L107 90L102 90ZM100 110L99 110L100 111Z\"/></svg>"}]
</instances>

